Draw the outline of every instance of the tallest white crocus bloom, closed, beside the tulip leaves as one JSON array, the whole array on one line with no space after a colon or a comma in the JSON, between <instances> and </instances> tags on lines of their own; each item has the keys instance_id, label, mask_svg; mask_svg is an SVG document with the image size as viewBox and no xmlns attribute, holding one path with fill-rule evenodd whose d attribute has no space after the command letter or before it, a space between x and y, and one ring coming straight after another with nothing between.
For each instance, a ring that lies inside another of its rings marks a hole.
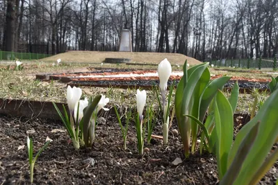
<instances>
[{"instance_id":1,"label":"tallest white crocus bloom, closed, beside the tulip leaves","mask_svg":"<svg viewBox=\"0 0 278 185\"><path fill-rule=\"evenodd\" d=\"M159 78L159 87L161 91L166 91L167 89L167 81L171 76L172 67L170 62L165 58L158 64L158 78Z\"/></svg>"}]
</instances>

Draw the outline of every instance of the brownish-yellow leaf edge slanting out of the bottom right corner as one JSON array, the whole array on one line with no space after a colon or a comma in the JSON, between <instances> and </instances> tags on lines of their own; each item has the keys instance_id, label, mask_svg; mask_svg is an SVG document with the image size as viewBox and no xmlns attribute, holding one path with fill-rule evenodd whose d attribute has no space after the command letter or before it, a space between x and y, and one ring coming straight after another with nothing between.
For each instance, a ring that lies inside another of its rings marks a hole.
<instances>
[{"instance_id":1,"label":"brownish-yellow leaf edge slanting out of the bottom right corner","mask_svg":"<svg viewBox=\"0 0 278 185\"><path fill-rule=\"evenodd\" d=\"M273 164L275 164L277 159L278 159L278 148L276 148L275 151L272 152L271 155L268 157L268 159L266 159L263 162L263 165L259 168L259 170L256 172L256 174L253 176L252 181L249 184L250 185L258 184L259 181L265 175L265 173L267 173L268 170L270 170L270 168L273 166Z\"/></svg>"}]
</instances>

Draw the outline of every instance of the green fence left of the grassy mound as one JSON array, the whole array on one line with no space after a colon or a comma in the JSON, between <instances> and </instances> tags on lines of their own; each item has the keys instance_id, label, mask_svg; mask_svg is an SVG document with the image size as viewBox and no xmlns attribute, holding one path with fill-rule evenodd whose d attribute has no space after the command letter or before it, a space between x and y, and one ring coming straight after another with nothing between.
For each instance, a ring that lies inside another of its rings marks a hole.
<instances>
[{"instance_id":1,"label":"green fence left of the grassy mound","mask_svg":"<svg viewBox=\"0 0 278 185\"><path fill-rule=\"evenodd\" d=\"M51 55L44 53L17 53L10 51L0 51L0 60L38 60Z\"/></svg>"}]
</instances>

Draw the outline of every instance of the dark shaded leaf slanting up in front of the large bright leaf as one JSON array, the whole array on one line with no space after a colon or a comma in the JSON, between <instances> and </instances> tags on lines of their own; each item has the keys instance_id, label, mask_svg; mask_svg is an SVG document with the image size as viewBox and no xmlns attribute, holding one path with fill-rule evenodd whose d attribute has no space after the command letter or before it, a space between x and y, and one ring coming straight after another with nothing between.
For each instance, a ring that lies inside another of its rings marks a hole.
<instances>
[{"instance_id":1,"label":"dark shaded leaf slanting up in front of the large bright leaf","mask_svg":"<svg viewBox=\"0 0 278 185\"><path fill-rule=\"evenodd\" d=\"M234 158L234 161L232 162L229 169L227 170L227 173L225 173L223 179L220 182L220 185L232 185L234 183L236 177L238 177L240 168L243 166L243 161L247 157L247 154L250 152L250 149L254 144L254 141L258 134L258 130L259 122L254 127L252 127L247 136L245 136L245 139L243 139L243 142L240 144L238 152L236 153L236 157Z\"/></svg>"}]
</instances>

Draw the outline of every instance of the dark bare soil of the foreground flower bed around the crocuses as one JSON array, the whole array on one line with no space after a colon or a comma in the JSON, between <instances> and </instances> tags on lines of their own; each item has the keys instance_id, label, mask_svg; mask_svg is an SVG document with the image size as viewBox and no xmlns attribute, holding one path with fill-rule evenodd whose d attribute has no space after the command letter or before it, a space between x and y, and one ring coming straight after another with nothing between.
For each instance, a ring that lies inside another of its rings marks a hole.
<instances>
[{"instance_id":1,"label":"dark bare soil of the foreground flower bed around the crocuses","mask_svg":"<svg viewBox=\"0 0 278 185\"><path fill-rule=\"evenodd\" d=\"M136 130L131 125L127 149L123 150L120 126L115 116L99 121L93 148L74 150L60 121L48 119L12 118L0 116L0 184L30 184L26 136L33 138L34 153L49 136L53 141L38 157L34 184L217 184L215 157L200 156L198 152L184 159L179 136L169 135L169 145L152 139L145 143L145 155L140 157L136 147ZM171 128L177 128L173 125ZM33 134L26 134L35 130ZM161 134L156 125L154 134ZM19 146L25 146L19 149ZM174 166L177 157L183 162ZM95 164L91 164L95 161ZM278 165L262 179L261 184L276 182Z\"/></svg>"}]
</instances>

